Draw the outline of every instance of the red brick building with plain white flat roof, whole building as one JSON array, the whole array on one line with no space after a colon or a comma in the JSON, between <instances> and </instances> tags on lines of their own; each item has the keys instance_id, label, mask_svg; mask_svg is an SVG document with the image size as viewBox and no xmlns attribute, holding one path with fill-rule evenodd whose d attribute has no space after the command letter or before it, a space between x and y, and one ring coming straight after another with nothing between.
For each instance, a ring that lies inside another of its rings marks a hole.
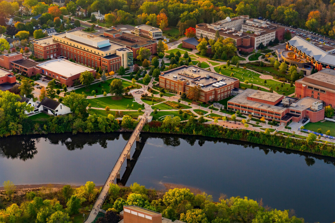
<instances>
[{"instance_id":1,"label":"red brick building with plain white flat roof, whole building","mask_svg":"<svg viewBox=\"0 0 335 223\"><path fill-rule=\"evenodd\" d=\"M80 64L73 63L65 59L57 59L46 61L37 66L41 69L41 74L48 77L46 80L56 79L60 84L73 86L79 82L80 74L84 71L89 71L95 76L95 70Z\"/></svg>"}]
</instances>

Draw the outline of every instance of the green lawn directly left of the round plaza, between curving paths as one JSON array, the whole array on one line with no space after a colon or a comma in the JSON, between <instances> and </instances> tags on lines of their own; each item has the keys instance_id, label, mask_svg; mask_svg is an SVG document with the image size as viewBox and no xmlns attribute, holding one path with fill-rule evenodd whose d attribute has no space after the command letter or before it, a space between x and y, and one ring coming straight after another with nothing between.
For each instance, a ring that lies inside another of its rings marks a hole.
<instances>
[{"instance_id":1,"label":"green lawn directly left of the round plaza, between curving paths","mask_svg":"<svg viewBox=\"0 0 335 223\"><path fill-rule=\"evenodd\" d=\"M130 110L137 110L139 108L143 109L143 107L137 102L133 102L132 98L122 98L120 100L113 100L114 96L101 97L88 99L88 103L92 105L92 107L97 108L99 103L99 108L105 109L108 106L110 109L127 109L127 105L129 105ZM132 108L131 105L134 104Z\"/></svg>"}]
</instances>

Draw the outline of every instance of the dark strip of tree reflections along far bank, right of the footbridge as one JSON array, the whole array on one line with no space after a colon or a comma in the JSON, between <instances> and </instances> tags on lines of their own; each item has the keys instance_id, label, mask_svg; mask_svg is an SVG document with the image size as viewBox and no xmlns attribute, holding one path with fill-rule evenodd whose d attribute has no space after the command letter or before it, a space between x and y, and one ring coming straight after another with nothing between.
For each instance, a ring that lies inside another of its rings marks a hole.
<instances>
[{"instance_id":1,"label":"dark strip of tree reflections along far bank, right of the footbridge","mask_svg":"<svg viewBox=\"0 0 335 223\"><path fill-rule=\"evenodd\" d=\"M234 144L234 145L240 145L244 148L253 148L253 149L259 149L264 152L264 154L269 154L272 152L273 154L279 153L285 153L285 154L299 154L300 156L305 157L305 162L308 166L312 166L315 163L315 159L323 160L327 164L333 164L335 165L335 158L333 157L327 157L327 156L321 156L317 154L309 154L306 152L300 152L295 150L289 150L274 146L265 146L265 145L259 145L256 143L249 143L249 142L243 142L243 141L237 141L237 140L229 140L229 139L223 139L223 138L211 138L211 137L204 137L204 136L194 136L194 135L159 135L159 134L147 134L147 133L141 133L143 135L146 135L151 138L160 138L163 140L163 143L165 145L172 145L172 146L178 146L180 145L180 140L183 139L187 143L189 143L191 146L193 146L196 141L198 141L199 146L203 146L206 141L217 143L217 142L223 142L226 144Z\"/></svg>"}]
</instances>

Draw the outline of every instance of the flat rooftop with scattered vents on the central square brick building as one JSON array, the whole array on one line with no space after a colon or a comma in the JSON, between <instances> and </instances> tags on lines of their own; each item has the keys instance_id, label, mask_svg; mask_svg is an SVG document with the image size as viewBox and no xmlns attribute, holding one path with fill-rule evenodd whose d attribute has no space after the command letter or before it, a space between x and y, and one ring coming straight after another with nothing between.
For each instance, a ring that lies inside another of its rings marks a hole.
<instances>
[{"instance_id":1,"label":"flat rooftop with scattered vents on the central square brick building","mask_svg":"<svg viewBox=\"0 0 335 223\"><path fill-rule=\"evenodd\" d=\"M181 66L169 71L162 72L160 77L164 77L173 81L177 80L188 80L188 86L194 87L197 85L201 86L201 89L204 91L214 90L218 88L213 86L213 84L218 84L219 82L224 82L226 85L232 84L238 79L224 76L212 71L208 71L197 66ZM219 84L219 87L224 85Z\"/></svg>"}]
</instances>

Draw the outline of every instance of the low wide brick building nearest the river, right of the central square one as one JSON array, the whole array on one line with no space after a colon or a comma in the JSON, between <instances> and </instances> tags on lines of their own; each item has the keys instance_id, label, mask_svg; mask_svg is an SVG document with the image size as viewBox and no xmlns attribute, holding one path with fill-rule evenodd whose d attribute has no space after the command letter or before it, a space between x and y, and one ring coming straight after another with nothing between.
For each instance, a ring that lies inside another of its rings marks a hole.
<instances>
[{"instance_id":1,"label":"low wide brick building nearest the river, right of the central square one","mask_svg":"<svg viewBox=\"0 0 335 223\"><path fill-rule=\"evenodd\" d=\"M318 122L325 115L321 100L311 97L298 99L254 89L246 89L230 99L228 109L257 118L274 119L282 125L287 125L291 120L298 122L305 117L311 122Z\"/></svg>"}]
</instances>

